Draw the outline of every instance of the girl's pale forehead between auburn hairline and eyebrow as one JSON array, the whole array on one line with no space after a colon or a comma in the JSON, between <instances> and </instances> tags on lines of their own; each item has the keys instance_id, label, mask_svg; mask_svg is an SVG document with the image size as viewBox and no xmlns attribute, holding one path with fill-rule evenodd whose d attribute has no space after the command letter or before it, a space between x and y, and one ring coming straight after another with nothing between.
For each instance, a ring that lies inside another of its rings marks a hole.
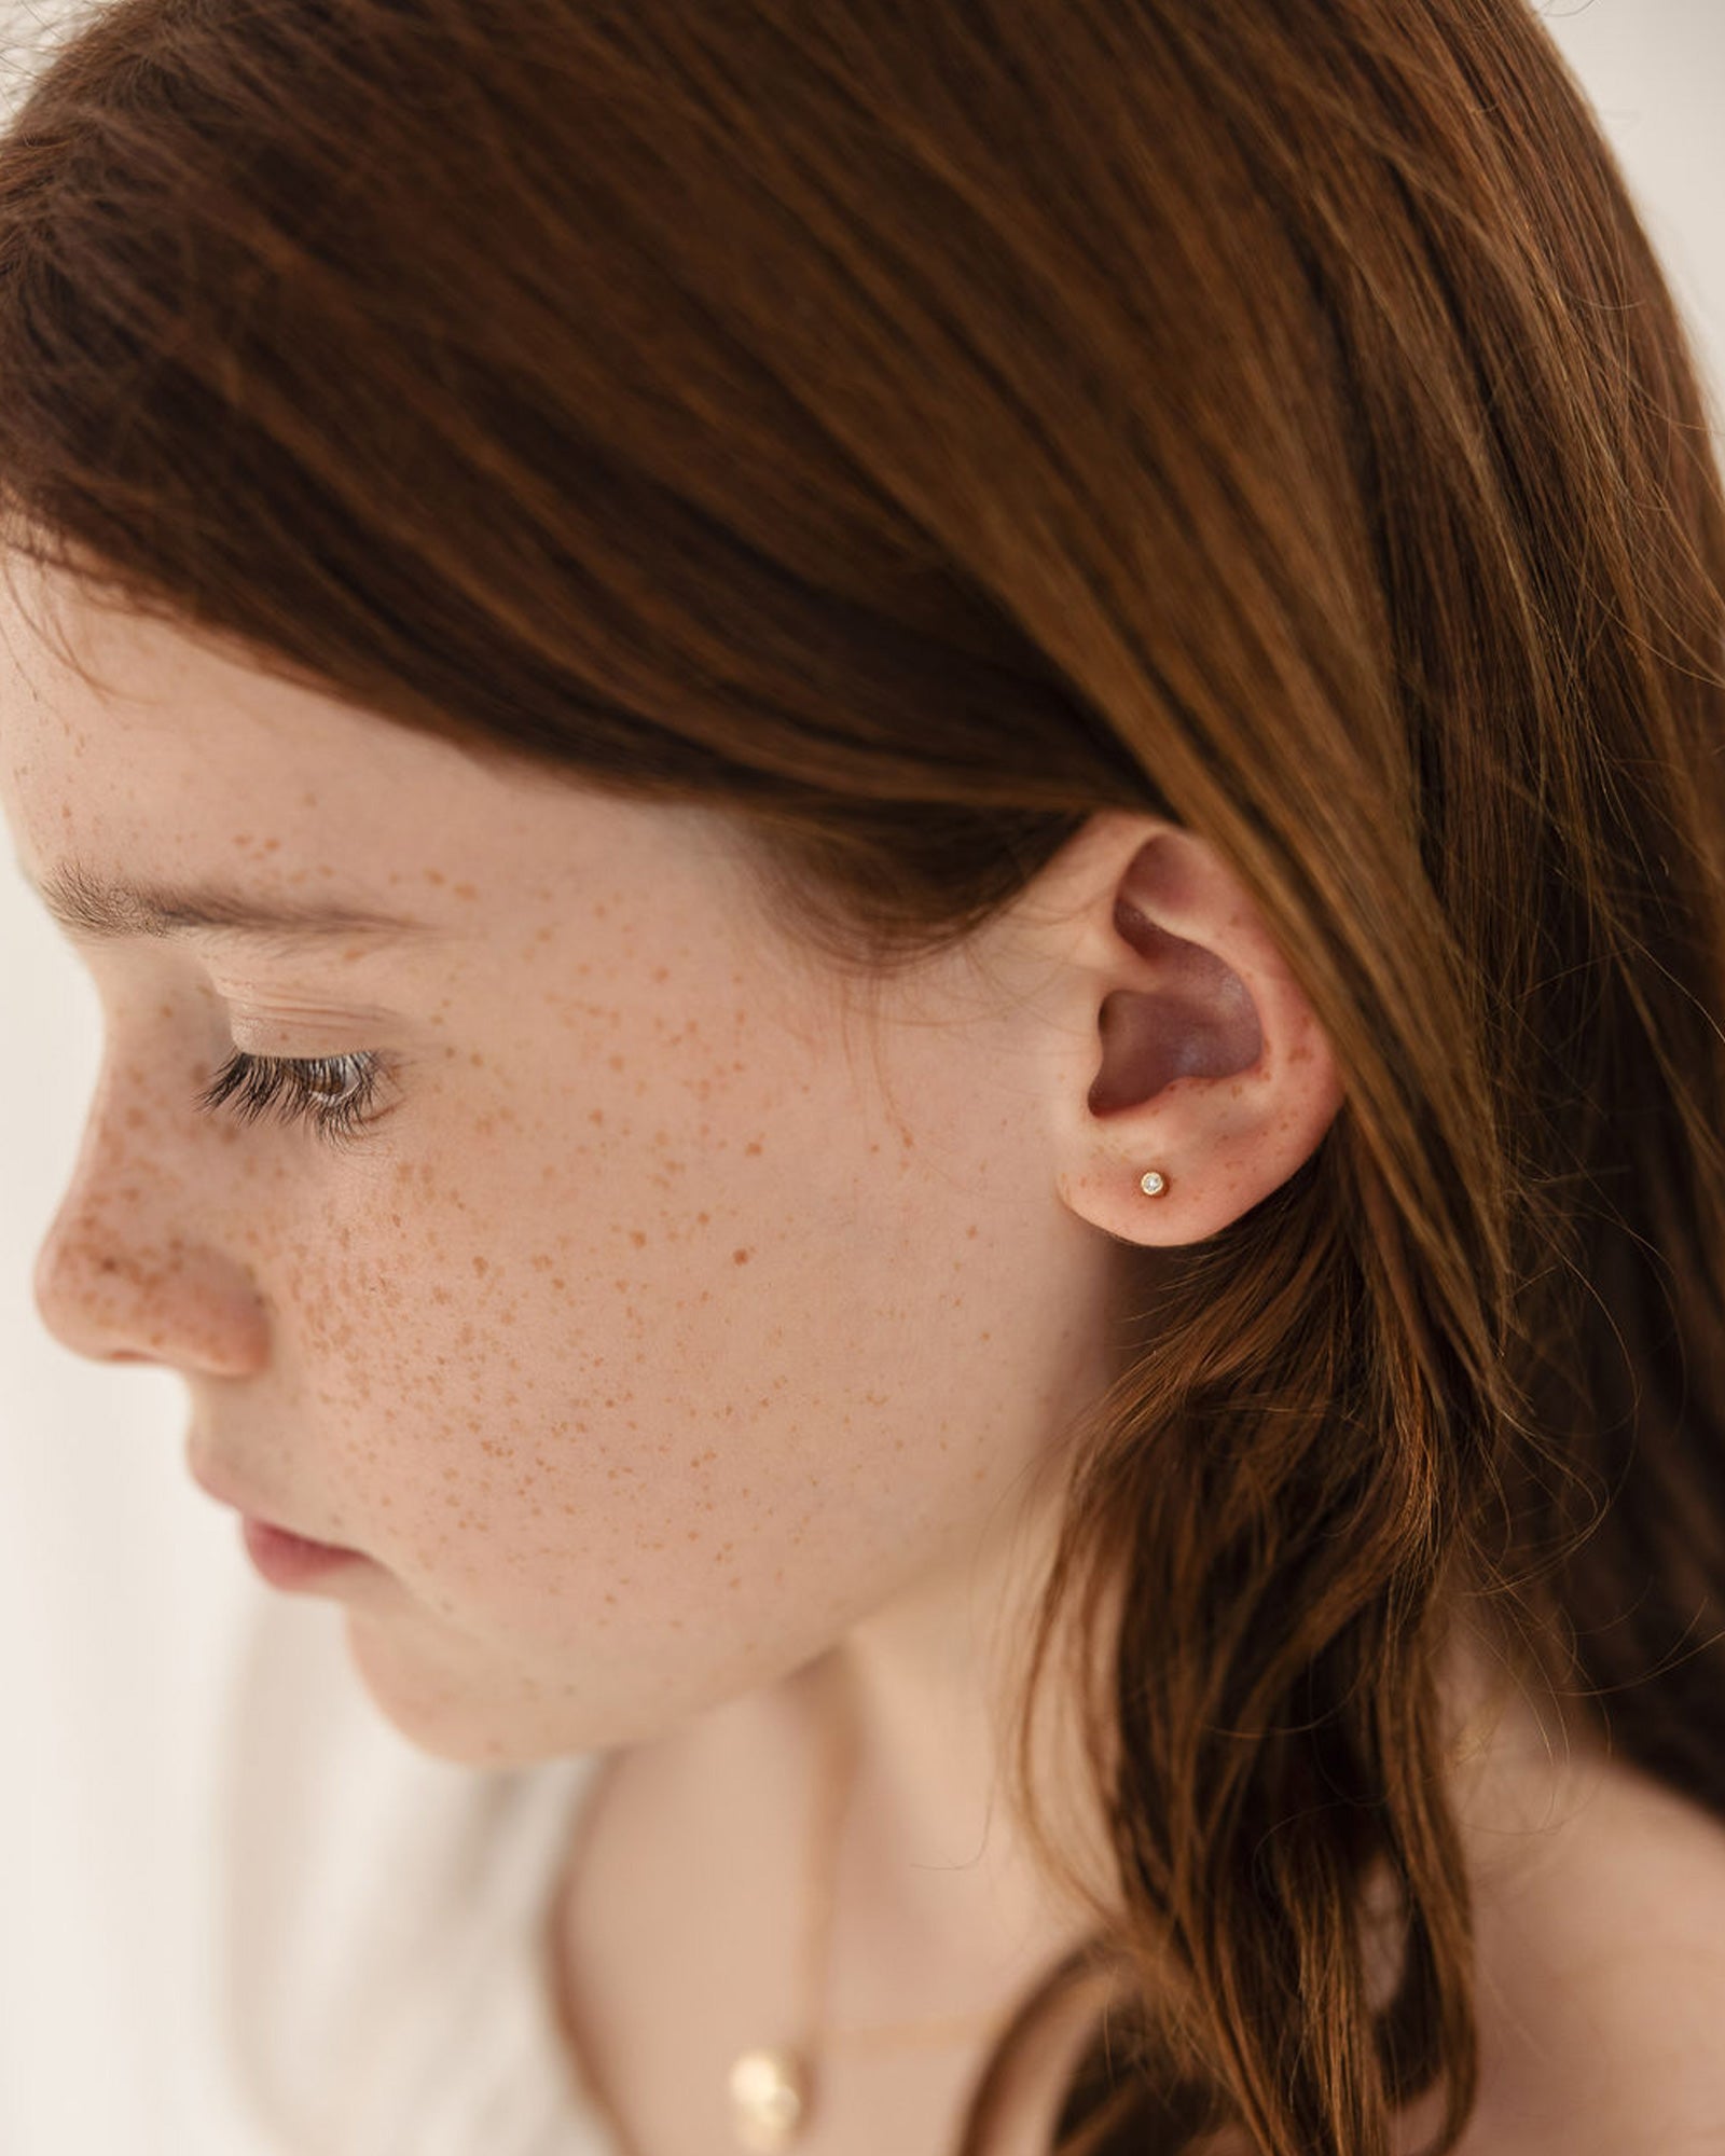
<instances>
[{"instance_id":1,"label":"girl's pale forehead between auburn hairline and eyebrow","mask_svg":"<svg viewBox=\"0 0 1725 2156\"><path fill-rule=\"evenodd\" d=\"M339 893L453 931L617 899L716 916L720 880L746 897L720 808L481 761L65 584L39 636L19 586L28 617L0 573L0 813L37 884Z\"/></svg>"}]
</instances>

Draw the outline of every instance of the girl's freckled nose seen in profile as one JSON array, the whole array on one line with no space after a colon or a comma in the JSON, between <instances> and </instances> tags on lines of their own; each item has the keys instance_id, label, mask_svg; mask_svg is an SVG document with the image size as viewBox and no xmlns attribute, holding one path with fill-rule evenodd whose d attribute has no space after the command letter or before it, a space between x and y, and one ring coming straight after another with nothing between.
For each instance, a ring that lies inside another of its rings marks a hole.
<instances>
[{"instance_id":1,"label":"girl's freckled nose seen in profile","mask_svg":"<svg viewBox=\"0 0 1725 2156\"><path fill-rule=\"evenodd\" d=\"M106 1087L104 1087L106 1091ZM196 1233L188 1177L114 1143L91 1110L71 1184L34 1263L41 1322L93 1363L166 1363L252 1376L267 1358L263 1304L242 1266Z\"/></svg>"}]
</instances>

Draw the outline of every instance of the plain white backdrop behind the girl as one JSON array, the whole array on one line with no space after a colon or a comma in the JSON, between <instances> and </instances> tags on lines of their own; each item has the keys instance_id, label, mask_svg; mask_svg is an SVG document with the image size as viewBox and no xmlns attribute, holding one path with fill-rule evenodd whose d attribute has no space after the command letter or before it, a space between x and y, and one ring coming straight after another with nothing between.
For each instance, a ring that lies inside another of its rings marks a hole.
<instances>
[{"instance_id":1,"label":"plain white backdrop behind the girl","mask_svg":"<svg viewBox=\"0 0 1725 2156\"><path fill-rule=\"evenodd\" d=\"M0 54L54 13L0 11ZM1725 382L1725 4L1546 13ZM0 2156L252 2156L211 2035L207 1843L267 1589L185 1479L179 1380L80 1363L30 1300L97 1056L95 994L0 845Z\"/></svg>"}]
</instances>

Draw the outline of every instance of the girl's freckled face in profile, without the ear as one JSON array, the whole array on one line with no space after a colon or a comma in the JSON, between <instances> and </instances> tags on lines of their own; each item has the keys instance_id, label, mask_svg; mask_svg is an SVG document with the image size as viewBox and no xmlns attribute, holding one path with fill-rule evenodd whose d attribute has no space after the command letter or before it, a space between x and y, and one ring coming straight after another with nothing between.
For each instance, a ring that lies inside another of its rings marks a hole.
<instances>
[{"instance_id":1,"label":"girl's freckled face in profile, without the ear","mask_svg":"<svg viewBox=\"0 0 1725 2156\"><path fill-rule=\"evenodd\" d=\"M875 1028L727 819L60 619L97 681L4 595L0 806L106 1013L41 1311L181 1371L216 1494L362 1552L319 1591L397 1727L636 1742L960 1598L1110 1376L1048 946L977 938ZM412 925L239 921L336 906ZM330 1063L201 1106L235 1050Z\"/></svg>"}]
</instances>

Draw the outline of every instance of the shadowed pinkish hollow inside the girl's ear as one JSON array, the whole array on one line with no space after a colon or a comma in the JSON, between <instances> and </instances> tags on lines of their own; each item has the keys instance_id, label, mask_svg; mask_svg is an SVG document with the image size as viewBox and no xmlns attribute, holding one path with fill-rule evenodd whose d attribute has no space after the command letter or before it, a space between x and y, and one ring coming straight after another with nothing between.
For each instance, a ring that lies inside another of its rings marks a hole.
<instances>
[{"instance_id":1,"label":"shadowed pinkish hollow inside the girl's ear","mask_svg":"<svg viewBox=\"0 0 1725 2156\"><path fill-rule=\"evenodd\" d=\"M1117 987L1098 1018L1102 1069L1091 1115L1136 1108L1175 1078L1229 1078L1264 1054L1264 1028L1240 975L1203 944L1171 936L1121 899L1115 925L1158 972L1154 987Z\"/></svg>"}]
</instances>

